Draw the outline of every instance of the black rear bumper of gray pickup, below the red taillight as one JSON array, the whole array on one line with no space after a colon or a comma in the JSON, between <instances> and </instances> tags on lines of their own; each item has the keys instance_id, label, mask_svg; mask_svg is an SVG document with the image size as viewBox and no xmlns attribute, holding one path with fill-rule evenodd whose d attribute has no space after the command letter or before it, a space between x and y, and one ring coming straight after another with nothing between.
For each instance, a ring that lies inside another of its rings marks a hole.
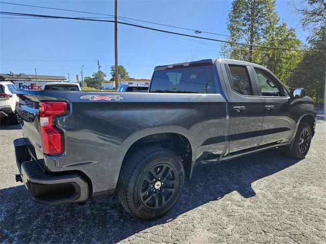
<instances>
[{"instance_id":1,"label":"black rear bumper of gray pickup, below the red taillight","mask_svg":"<svg viewBox=\"0 0 326 244\"><path fill-rule=\"evenodd\" d=\"M35 160L25 138L14 140L16 163L25 187L34 201L47 205L85 202L89 198L89 185L77 173L50 174ZM34 160L33 160L34 159ZM16 180L20 177L16 176Z\"/></svg>"}]
</instances>

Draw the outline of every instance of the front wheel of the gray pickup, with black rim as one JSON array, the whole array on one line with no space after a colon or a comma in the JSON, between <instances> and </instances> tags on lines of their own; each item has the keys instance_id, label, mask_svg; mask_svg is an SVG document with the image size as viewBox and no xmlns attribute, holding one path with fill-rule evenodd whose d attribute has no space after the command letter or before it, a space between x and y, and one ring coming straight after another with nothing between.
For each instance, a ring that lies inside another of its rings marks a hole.
<instances>
[{"instance_id":1,"label":"front wheel of the gray pickup, with black rim","mask_svg":"<svg viewBox=\"0 0 326 244\"><path fill-rule=\"evenodd\" d=\"M308 154L312 133L308 123L301 122L297 128L291 150L284 149L284 153L295 159L304 159Z\"/></svg>"}]
</instances>

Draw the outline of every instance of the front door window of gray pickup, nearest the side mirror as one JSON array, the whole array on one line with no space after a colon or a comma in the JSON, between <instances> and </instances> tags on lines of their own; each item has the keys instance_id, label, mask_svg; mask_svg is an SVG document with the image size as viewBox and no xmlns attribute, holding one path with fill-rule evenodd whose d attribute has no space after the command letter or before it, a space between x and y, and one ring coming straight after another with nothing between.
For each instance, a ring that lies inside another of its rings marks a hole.
<instances>
[{"instance_id":1,"label":"front door window of gray pickup, nearest the side mirror","mask_svg":"<svg viewBox=\"0 0 326 244\"><path fill-rule=\"evenodd\" d=\"M281 87L277 83L277 81L274 81L273 79L270 78L270 76L259 69L256 69L256 74L258 78L258 83L261 88L261 95L262 96L269 96L269 97L281 97L282 92L281 92Z\"/></svg>"}]
</instances>

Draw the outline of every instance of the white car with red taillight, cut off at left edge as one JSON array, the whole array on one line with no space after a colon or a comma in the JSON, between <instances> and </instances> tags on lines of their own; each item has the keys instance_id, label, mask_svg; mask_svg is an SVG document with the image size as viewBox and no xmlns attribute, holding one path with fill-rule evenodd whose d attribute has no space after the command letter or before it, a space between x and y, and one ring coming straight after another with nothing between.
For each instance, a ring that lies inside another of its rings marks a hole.
<instances>
[{"instance_id":1,"label":"white car with red taillight, cut off at left edge","mask_svg":"<svg viewBox=\"0 0 326 244\"><path fill-rule=\"evenodd\" d=\"M12 124L18 124L16 107L18 97L15 93L16 85L8 82L0 82L0 118L9 118Z\"/></svg>"}]
</instances>

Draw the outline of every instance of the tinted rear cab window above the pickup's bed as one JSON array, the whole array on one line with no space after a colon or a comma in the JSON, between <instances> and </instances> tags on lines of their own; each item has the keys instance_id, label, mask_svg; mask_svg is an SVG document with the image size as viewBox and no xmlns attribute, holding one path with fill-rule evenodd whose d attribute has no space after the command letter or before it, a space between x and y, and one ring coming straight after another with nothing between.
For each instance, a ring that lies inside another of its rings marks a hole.
<instances>
[{"instance_id":1,"label":"tinted rear cab window above the pickup's bed","mask_svg":"<svg viewBox=\"0 0 326 244\"><path fill-rule=\"evenodd\" d=\"M213 65L154 71L150 93L216 93Z\"/></svg>"}]
</instances>

